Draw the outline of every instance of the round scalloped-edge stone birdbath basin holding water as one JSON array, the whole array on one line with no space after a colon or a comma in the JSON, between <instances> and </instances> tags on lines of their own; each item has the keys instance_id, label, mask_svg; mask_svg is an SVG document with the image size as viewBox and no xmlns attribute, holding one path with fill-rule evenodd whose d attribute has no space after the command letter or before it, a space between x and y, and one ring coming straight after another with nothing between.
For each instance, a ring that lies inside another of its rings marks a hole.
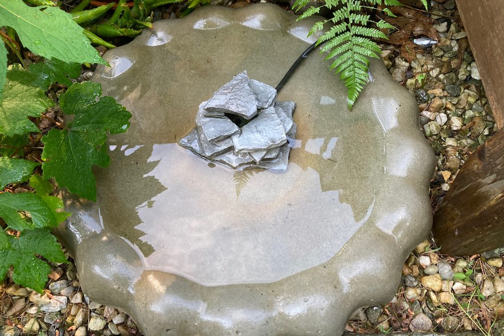
<instances>
[{"instance_id":1,"label":"round scalloped-edge stone birdbath basin holding water","mask_svg":"<svg viewBox=\"0 0 504 336\"><path fill-rule=\"evenodd\" d=\"M280 81L316 38L316 18L295 19L270 4L205 6L155 22L95 72L132 125L110 137L98 202L66 196L58 234L91 300L148 336L340 335L355 309L394 296L429 232L434 156L414 97L380 61L352 111L324 55L303 62L277 97L297 104L284 173L233 171L176 144L235 74Z\"/></svg>"}]
</instances>

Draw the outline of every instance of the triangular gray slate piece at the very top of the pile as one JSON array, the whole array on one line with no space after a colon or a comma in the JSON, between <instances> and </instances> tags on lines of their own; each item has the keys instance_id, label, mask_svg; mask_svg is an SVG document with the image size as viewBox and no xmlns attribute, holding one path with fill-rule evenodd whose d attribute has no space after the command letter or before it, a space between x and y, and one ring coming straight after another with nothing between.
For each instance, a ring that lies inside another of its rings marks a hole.
<instances>
[{"instance_id":1,"label":"triangular gray slate piece at the very top of the pile","mask_svg":"<svg viewBox=\"0 0 504 336\"><path fill-rule=\"evenodd\" d=\"M256 97L248 86L246 71L224 84L205 106L207 111L225 112L250 119L257 114Z\"/></svg>"}]
</instances>

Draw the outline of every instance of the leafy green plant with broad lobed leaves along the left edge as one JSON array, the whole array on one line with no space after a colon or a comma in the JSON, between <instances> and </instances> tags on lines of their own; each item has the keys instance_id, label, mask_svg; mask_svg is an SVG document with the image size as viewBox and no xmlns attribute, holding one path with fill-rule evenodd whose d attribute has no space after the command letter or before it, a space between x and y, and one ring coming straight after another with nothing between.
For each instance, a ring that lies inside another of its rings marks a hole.
<instances>
[{"instance_id":1,"label":"leafy green plant with broad lobed leaves along the left edge","mask_svg":"<svg viewBox=\"0 0 504 336\"><path fill-rule=\"evenodd\" d=\"M42 292L50 271L47 261L67 262L51 229L70 216L62 200L51 196L54 187L48 179L95 200L91 168L108 165L103 146L107 134L127 130L131 114L113 98L100 98L99 84L75 83L80 63L106 62L71 15L54 7L29 7L21 0L0 0L0 22L8 26L0 31L4 43L22 62L8 66L7 49L0 43L0 280L13 267L16 283ZM25 47L48 58L26 66L16 32ZM69 89L63 93L61 86ZM55 87L59 101L48 97ZM63 125L45 115L48 108L73 115L73 120ZM54 125L44 136L41 118ZM25 154L40 148L40 141L42 160L39 155L27 160Z\"/></svg>"}]
</instances>

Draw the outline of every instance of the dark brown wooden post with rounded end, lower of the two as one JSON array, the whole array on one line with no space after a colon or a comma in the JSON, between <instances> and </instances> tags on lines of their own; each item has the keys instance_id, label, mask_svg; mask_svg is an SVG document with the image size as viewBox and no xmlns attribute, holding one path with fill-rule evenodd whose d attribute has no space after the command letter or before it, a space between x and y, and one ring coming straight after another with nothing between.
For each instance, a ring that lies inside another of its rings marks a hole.
<instances>
[{"instance_id":1,"label":"dark brown wooden post with rounded end, lower of the two","mask_svg":"<svg viewBox=\"0 0 504 336\"><path fill-rule=\"evenodd\" d=\"M504 131L481 145L462 166L434 215L441 252L473 255L504 246Z\"/></svg>"}]
</instances>

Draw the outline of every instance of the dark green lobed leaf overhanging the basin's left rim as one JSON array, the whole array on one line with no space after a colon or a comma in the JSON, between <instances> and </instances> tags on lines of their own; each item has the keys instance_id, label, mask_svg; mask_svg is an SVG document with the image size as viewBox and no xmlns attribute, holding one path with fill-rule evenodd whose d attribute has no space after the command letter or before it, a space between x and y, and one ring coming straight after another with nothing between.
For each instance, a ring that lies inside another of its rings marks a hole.
<instances>
[{"instance_id":1,"label":"dark green lobed leaf overhanging the basin's left rim","mask_svg":"<svg viewBox=\"0 0 504 336\"><path fill-rule=\"evenodd\" d=\"M94 165L106 167L107 132L128 129L131 113L112 97L102 97L97 83L75 83L59 98L62 111L74 119L65 129L51 129L42 138L43 176L54 177L59 186L87 199L96 200Z\"/></svg>"}]
</instances>

